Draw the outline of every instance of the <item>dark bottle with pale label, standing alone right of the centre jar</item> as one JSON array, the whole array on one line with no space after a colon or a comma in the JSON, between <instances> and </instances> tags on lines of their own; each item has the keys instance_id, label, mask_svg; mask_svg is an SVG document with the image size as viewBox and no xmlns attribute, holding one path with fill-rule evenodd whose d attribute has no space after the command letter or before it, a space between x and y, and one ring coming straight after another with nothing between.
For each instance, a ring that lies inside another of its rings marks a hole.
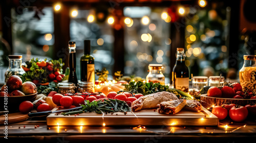
<instances>
[{"instance_id":1,"label":"dark bottle with pale label, standing alone right of the centre jar","mask_svg":"<svg viewBox=\"0 0 256 143\"><path fill-rule=\"evenodd\" d=\"M184 92L188 92L189 87L189 70L185 65L184 49L177 48L176 63L173 68L172 81L173 87Z\"/></svg>"}]
</instances>

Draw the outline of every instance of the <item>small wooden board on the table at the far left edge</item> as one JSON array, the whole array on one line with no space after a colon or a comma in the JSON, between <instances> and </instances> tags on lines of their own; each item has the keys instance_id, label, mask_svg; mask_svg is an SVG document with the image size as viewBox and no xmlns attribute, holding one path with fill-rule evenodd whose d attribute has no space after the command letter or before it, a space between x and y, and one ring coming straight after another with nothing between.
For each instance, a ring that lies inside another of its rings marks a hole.
<instances>
[{"instance_id":1,"label":"small wooden board on the table at the far left edge","mask_svg":"<svg viewBox=\"0 0 256 143\"><path fill-rule=\"evenodd\" d=\"M0 116L0 125L7 125L11 123L17 123L17 122L22 122L25 121L29 118L28 114L24 114L21 112L16 112L16 113L4 113L1 114Z\"/></svg>"}]
</instances>

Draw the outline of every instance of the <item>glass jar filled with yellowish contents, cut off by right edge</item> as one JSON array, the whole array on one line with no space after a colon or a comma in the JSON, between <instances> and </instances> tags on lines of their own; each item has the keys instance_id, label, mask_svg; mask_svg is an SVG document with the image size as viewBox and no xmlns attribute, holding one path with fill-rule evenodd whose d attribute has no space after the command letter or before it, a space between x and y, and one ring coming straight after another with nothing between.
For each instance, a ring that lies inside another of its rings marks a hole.
<instances>
[{"instance_id":1,"label":"glass jar filled with yellowish contents, cut off by right edge","mask_svg":"<svg viewBox=\"0 0 256 143\"><path fill-rule=\"evenodd\" d=\"M256 55L244 55L244 65L239 70L240 84L243 91L256 91Z\"/></svg>"}]
</instances>

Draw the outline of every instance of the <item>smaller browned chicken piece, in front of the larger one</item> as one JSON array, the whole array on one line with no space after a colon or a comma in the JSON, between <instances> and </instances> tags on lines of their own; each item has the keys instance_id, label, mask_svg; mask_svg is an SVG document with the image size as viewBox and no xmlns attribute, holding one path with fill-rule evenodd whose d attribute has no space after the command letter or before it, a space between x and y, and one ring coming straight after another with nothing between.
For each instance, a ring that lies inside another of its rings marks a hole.
<instances>
[{"instance_id":1,"label":"smaller browned chicken piece, in front of the larger one","mask_svg":"<svg viewBox=\"0 0 256 143\"><path fill-rule=\"evenodd\" d=\"M157 112L163 113L163 114L176 114L185 106L186 106L185 99L161 102L158 105L159 108L157 108Z\"/></svg>"}]
</instances>

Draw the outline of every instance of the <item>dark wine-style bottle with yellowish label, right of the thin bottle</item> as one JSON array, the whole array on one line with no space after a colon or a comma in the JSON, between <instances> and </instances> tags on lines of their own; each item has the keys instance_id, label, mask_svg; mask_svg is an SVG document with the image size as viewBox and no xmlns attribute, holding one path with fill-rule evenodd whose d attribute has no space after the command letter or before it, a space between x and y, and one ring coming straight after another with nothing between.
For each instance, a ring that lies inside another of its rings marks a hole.
<instances>
[{"instance_id":1,"label":"dark wine-style bottle with yellowish label, right of the thin bottle","mask_svg":"<svg viewBox=\"0 0 256 143\"><path fill-rule=\"evenodd\" d=\"M80 58L81 81L95 83L94 57L90 54L90 40L84 40L84 55Z\"/></svg>"}]
</instances>

